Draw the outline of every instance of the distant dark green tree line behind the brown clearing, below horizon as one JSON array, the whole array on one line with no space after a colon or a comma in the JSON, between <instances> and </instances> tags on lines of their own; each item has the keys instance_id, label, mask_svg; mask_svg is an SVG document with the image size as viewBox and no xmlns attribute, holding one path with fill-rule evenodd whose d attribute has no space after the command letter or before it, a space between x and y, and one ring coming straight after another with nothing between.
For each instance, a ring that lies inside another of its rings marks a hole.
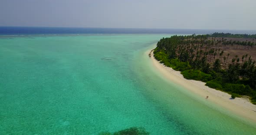
<instances>
[{"instance_id":1,"label":"distant dark green tree line behind the brown clearing, below horizon","mask_svg":"<svg viewBox=\"0 0 256 135\"><path fill-rule=\"evenodd\" d=\"M248 34L231 34L231 33L218 33L218 32L215 32L215 33L207 35L207 36L225 37L225 38L256 38L256 34L248 35Z\"/></svg>"}]
</instances>

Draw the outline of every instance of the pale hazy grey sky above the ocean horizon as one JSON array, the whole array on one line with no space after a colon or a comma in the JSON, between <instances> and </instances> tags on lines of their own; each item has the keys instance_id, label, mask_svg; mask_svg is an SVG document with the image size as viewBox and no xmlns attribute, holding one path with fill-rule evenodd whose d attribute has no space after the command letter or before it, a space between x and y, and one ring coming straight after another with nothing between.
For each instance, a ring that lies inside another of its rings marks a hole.
<instances>
[{"instance_id":1,"label":"pale hazy grey sky above the ocean horizon","mask_svg":"<svg viewBox=\"0 0 256 135\"><path fill-rule=\"evenodd\" d=\"M256 30L256 0L0 0L0 26Z\"/></svg>"}]
</instances>

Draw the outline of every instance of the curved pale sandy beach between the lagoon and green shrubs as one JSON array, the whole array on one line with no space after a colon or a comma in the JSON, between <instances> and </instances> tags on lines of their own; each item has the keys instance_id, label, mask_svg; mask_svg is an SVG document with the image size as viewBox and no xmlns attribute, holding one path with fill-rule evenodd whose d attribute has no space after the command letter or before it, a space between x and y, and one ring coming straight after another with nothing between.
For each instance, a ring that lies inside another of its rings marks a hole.
<instances>
[{"instance_id":1,"label":"curved pale sandy beach between the lagoon and green shrubs","mask_svg":"<svg viewBox=\"0 0 256 135\"><path fill-rule=\"evenodd\" d=\"M171 67L166 67L164 64L159 63L159 61L154 58L153 51L147 51L147 54L149 56L151 55L150 59L154 67L156 67L168 80L181 85L187 90L191 90L197 95L202 96L202 98L205 98L208 95L209 98L207 100L217 103L240 116L256 122L256 105L250 103L248 98L231 99L230 94L209 88L205 86L206 83L204 82L187 80L183 77L180 71L175 71Z\"/></svg>"}]
</instances>

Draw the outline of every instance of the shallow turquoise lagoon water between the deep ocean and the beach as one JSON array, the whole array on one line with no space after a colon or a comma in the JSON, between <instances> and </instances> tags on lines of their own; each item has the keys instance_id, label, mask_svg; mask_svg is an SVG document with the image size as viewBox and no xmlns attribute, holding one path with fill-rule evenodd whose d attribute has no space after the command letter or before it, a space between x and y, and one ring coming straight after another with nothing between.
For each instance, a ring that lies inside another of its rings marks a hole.
<instances>
[{"instance_id":1,"label":"shallow turquoise lagoon water between the deep ocean and the beach","mask_svg":"<svg viewBox=\"0 0 256 135\"><path fill-rule=\"evenodd\" d=\"M0 38L0 134L252 135L256 124L160 76L145 51L171 35ZM185 100L184 100L185 99Z\"/></svg>"}]
</instances>

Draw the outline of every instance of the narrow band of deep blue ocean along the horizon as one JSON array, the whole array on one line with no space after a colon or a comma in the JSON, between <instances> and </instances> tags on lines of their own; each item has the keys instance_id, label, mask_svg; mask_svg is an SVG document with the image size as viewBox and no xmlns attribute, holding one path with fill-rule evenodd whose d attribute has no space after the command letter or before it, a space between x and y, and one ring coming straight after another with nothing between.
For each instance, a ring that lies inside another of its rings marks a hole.
<instances>
[{"instance_id":1,"label":"narrow band of deep blue ocean along the horizon","mask_svg":"<svg viewBox=\"0 0 256 135\"><path fill-rule=\"evenodd\" d=\"M60 35L60 34L255 34L255 30L213 29L133 29L133 28L68 28L68 27L0 27L0 35Z\"/></svg>"}]
</instances>

